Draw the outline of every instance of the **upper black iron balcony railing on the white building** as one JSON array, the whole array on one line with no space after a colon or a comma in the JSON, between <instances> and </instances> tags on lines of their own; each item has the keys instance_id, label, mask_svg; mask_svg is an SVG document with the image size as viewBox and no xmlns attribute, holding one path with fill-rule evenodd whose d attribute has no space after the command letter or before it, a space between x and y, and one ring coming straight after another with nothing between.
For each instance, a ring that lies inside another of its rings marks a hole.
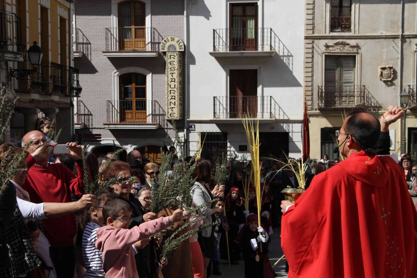
<instances>
[{"instance_id":1,"label":"upper black iron balcony railing on the white building","mask_svg":"<svg viewBox=\"0 0 417 278\"><path fill-rule=\"evenodd\" d=\"M275 51L276 34L271 28L213 29L213 51Z\"/></svg>"}]
</instances>

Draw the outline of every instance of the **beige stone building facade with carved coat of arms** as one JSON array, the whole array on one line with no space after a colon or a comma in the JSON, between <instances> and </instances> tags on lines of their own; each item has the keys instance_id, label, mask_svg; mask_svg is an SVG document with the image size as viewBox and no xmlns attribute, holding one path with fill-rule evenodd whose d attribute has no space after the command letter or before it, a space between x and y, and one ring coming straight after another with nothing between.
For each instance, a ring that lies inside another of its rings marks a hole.
<instances>
[{"instance_id":1,"label":"beige stone building facade with carved coat of arms","mask_svg":"<svg viewBox=\"0 0 417 278\"><path fill-rule=\"evenodd\" d=\"M415 1L306 0L304 95L310 122L310 157L336 158L334 132L343 117L368 110L379 118L409 93L416 103ZM407 112L407 152L416 141L416 110ZM390 126L391 151L399 153L402 121Z\"/></svg>"}]
</instances>

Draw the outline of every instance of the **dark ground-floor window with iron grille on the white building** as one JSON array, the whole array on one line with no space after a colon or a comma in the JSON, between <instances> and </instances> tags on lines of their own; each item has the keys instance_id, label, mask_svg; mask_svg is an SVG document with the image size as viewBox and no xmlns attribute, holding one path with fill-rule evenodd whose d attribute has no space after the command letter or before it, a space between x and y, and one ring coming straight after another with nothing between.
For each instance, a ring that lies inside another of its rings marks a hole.
<instances>
[{"instance_id":1,"label":"dark ground-floor window with iron grille on the white building","mask_svg":"<svg viewBox=\"0 0 417 278\"><path fill-rule=\"evenodd\" d=\"M204 140L204 137L206 139ZM222 153L227 154L227 132L201 133L201 141L204 140L201 158L216 160Z\"/></svg>"}]
</instances>

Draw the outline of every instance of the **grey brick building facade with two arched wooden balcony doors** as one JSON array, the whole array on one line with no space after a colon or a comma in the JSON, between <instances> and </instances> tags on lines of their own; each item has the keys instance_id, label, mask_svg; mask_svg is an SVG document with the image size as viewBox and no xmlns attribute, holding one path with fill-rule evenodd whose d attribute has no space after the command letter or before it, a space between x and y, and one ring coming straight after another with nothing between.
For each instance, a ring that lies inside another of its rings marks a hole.
<instances>
[{"instance_id":1,"label":"grey brick building facade with two arched wooden balcony doors","mask_svg":"<svg viewBox=\"0 0 417 278\"><path fill-rule=\"evenodd\" d=\"M85 83L76 103L76 137L96 154L120 146L141 148L156 159L173 136L165 117L166 62L159 44L168 36L184 40L184 2L80 0L74 25L75 65Z\"/></svg>"}]
</instances>

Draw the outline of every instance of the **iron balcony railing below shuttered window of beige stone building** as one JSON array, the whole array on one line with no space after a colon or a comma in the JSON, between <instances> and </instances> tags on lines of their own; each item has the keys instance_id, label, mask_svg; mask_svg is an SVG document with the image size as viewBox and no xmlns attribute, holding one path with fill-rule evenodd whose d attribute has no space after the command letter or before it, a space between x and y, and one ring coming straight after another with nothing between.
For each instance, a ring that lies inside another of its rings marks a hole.
<instances>
[{"instance_id":1,"label":"iron balcony railing below shuttered window of beige stone building","mask_svg":"<svg viewBox=\"0 0 417 278\"><path fill-rule=\"evenodd\" d=\"M317 86L319 108L358 108L365 107L365 86L353 85L335 88L333 86Z\"/></svg>"}]
</instances>

